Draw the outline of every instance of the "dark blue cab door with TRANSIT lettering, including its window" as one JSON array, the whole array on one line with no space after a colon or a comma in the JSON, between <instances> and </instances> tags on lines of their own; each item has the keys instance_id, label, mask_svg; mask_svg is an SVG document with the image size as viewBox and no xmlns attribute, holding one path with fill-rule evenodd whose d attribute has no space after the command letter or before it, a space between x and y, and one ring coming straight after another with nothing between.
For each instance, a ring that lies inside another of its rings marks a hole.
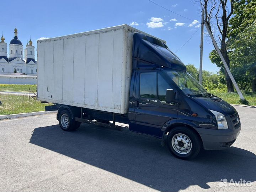
<instances>
[{"instance_id":1,"label":"dark blue cab door with TRANSIT lettering, including its window","mask_svg":"<svg viewBox=\"0 0 256 192\"><path fill-rule=\"evenodd\" d=\"M134 102L137 130L134 131L161 137L164 123L177 118L178 105L165 102L166 89L177 91L166 79L160 70L138 71Z\"/></svg>"}]
</instances>

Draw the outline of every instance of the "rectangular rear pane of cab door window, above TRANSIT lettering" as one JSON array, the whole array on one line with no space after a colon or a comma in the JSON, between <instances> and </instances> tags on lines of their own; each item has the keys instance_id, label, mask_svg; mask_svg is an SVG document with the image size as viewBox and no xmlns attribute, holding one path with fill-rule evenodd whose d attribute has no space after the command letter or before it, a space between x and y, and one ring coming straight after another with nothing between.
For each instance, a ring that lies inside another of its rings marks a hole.
<instances>
[{"instance_id":1,"label":"rectangular rear pane of cab door window, above TRANSIT lettering","mask_svg":"<svg viewBox=\"0 0 256 192\"><path fill-rule=\"evenodd\" d=\"M157 98L157 73L140 73L140 97Z\"/></svg>"}]
</instances>

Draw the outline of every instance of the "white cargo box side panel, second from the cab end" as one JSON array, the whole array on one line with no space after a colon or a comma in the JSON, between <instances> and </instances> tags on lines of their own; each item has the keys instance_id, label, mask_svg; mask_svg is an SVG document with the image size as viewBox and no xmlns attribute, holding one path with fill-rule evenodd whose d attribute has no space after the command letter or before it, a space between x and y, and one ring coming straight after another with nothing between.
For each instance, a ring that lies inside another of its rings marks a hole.
<instances>
[{"instance_id":1,"label":"white cargo box side panel, second from the cab end","mask_svg":"<svg viewBox=\"0 0 256 192\"><path fill-rule=\"evenodd\" d=\"M112 108L114 31L100 33L98 59L98 106Z\"/></svg>"}]
</instances>

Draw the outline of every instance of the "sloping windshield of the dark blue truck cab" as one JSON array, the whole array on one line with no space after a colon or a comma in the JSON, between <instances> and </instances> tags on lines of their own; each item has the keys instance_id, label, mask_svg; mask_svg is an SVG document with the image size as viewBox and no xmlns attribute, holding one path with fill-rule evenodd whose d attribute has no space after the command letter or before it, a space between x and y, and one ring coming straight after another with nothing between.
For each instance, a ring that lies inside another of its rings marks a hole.
<instances>
[{"instance_id":1,"label":"sloping windshield of the dark blue truck cab","mask_svg":"<svg viewBox=\"0 0 256 192\"><path fill-rule=\"evenodd\" d=\"M167 75L190 96L207 96L209 93L189 73L185 71L166 71Z\"/></svg>"}]
</instances>

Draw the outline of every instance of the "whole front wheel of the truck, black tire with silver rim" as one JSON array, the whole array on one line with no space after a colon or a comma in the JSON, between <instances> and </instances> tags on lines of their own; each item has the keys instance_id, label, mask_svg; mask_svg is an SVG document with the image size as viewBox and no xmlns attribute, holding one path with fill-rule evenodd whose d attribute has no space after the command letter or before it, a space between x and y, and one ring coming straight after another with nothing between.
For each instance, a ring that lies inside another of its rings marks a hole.
<instances>
[{"instance_id":1,"label":"whole front wheel of the truck, black tire with silver rim","mask_svg":"<svg viewBox=\"0 0 256 192\"><path fill-rule=\"evenodd\" d=\"M170 152L179 159L195 158L202 149L201 139L191 128L175 127L167 136Z\"/></svg>"}]
</instances>

